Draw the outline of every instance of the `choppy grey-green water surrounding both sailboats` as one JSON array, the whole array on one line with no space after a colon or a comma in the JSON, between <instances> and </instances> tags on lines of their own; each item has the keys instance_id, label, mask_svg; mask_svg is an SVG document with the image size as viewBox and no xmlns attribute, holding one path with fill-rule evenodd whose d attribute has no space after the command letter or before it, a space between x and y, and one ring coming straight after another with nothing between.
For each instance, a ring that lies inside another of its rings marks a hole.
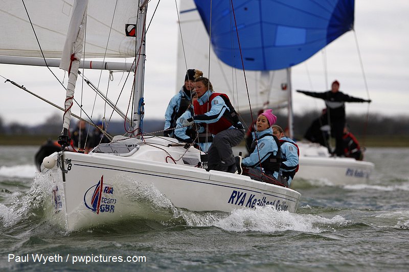
<instances>
[{"instance_id":1,"label":"choppy grey-green water surrounding both sailboats","mask_svg":"<svg viewBox=\"0 0 409 272\"><path fill-rule=\"evenodd\" d=\"M302 193L295 214L268 207L190 212L145 188L146 209L157 219L71 233L50 223L36 151L0 146L0 270L409 269L409 148L369 148L366 158L375 163L369 184L294 180ZM34 261L37 254L56 262Z\"/></svg>"}]
</instances>

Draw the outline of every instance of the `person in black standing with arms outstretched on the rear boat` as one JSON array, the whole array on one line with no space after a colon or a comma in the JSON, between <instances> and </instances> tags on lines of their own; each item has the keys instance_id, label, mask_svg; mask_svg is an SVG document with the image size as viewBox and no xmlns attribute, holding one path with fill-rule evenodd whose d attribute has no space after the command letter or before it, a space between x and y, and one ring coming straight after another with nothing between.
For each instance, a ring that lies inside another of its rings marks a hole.
<instances>
[{"instance_id":1,"label":"person in black standing with arms outstretched on the rear boat","mask_svg":"<svg viewBox=\"0 0 409 272\"><path fill-rule=\"evenodd\" d=\"M321 98L325 101L327 106L327 112L324 114L322 120L328 124L328 119L331 125L331 137L335 138L335 154L342 156L343 151L343 130L345 127L345 102L368 102L371 100L365 100L358 97L349 96L339 91L339 82L332 82L331 90L326 92L310 92L297 90L297 92L304 93L306 95Z\"/></svg>"}]
</instances>

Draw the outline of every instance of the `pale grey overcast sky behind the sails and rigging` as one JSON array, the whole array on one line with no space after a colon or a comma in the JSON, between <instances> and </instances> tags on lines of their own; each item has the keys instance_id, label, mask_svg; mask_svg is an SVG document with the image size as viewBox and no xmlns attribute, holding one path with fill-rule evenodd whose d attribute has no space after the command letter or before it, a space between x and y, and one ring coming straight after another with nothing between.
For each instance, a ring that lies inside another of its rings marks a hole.
<instances>
[{"instance_id":1,"label":"pale grey overcast sky behind the sails and rigging","mask_svg":"<svg viewBox=\"0 0 409 272\"><path fill-rule=\"evenodd\" d=\"M150 2L151 11L156 1ZM409 2L407 0L355 1L355 33L365 70L368 92L362 75L355 34L348 32L333 41L323 52L292 68L293 89L324 91L337 79L340 90L352 96L371 98L369 111L384 115L405 114L409 104ZM183 79L176 79L176 46L178 37L177 14L174 1L161 1L155 19L147 34L147 61L145 73L145 118L163 118L176 86ZM327 63L327 77L324 69ZM190 66L188 64L188 66ZM194 64L192 64L192 67ZM63 78L59 69L53 69ZM65 91L47 68L0 64L0 75L24 85L31 91L62 106ZM90 74L88 74L90 76ZM98 73L95 81L98 83ZM120 79L121 73L115 77ZM66 84L66 78L64 83ZM105 78L103 79L105 80ZM3 81L4 82L4 81ZM38 124L53 113L61 114L38 98L1 83L0 116L6 123ZM101 89L106 87L101 83ZM105 85L106 86L106 85ZM116 89L119 87L115 86ZM104 90L105 91L105 90ZM222 90L219 90L222 91ZM120 103L126 108L128 97ZM76 92L80 102L81 94ZM83 105L92 111L94 95L83 95ZM293 108L297 113L309 109L321 110L322 100L293 93ZM104 114L103 103L98 102L93 116ZM347 112L366 113L368 104L349 103ZM109 111L110 112L110 111ZM74 113L79 114L78 106ZM105 113L107 116L108 113ZM115 116L115 115L114 115ZM119 119L118 116L114 117Z\"/></svg>"}]
</instances>

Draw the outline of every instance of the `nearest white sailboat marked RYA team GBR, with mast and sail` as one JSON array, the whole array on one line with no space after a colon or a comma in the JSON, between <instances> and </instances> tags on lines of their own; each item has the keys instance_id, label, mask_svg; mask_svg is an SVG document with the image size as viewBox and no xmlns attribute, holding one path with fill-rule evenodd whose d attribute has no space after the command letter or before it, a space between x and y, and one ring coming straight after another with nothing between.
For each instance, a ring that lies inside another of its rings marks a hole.
<instances>
[{"instance_id":1,"label":"nearest white sailboat marked RYA team GBR, with mast and sail","mask_svg":"<svg viewBox=\"0 0 409 272\"><path fill-rule=\"evenodd\" d=\"M10 4L11 3L11 4ZM15 11L13 1L10 1L6 10ZM75 152L58 152L44 159L41 166L42 173L48 177L48 182L53 184L53 192L50 194L55 212L58 214L63 227L67 230L78 230L99 224L118 221L126 218L150 218L154 211L146 211L135 201L135 196L129 193L143 187L153 187L158 194L162 194L175 207L185 208L192 211L224 211L231 212L239 208L255 208L258 206L271 206L277 210L295 212L299 205L301 194L290 188L253 181L249 177L230 174L220 171L206 171L197 167L200 162L201 152L191 147L186 150L185 144L178 143L175 139L167 137L137 136L141 123L141 97L143 97L143 79L145 62L145 32L146 10L148 1L140 0L138 3L120 1L117 6L107 8L106 4L116 4L115 1L43 1L41 4L55 6L62 14L70 15L70 30L74 33L65 41L65 51L62 59L68 59L69 65L65 69L70 70L69 87L67 88L63 132L59 142L69 145L68 129L70 125L69 109L72 105L72 96L77 78L76 69L84 65L81 55L87 55L87 48L101 51L105 56L107 40L99 42L89 41L89 29L91 21L97 23L95 30L119 26L113 33L119 35L116 38L117 46L112 56L123 57L134 55L136 69L134 77L134 109L131 120L132 133L129 137L116 136L111 143L100 144L89 154ZM52 3L52 5L51 5ZM33 6L36 3L31 2ZM21 8L21 7L20 7ZM20 10L21 11L21 10ZM98 15L98 12L103 14ZM117 14L116 12L120 12ZM53 14L53 13L51 13ZM115 16L114 16L115 14ZM72 16L71 16L72 15ZM39 16L41 17L41 16ZM56 15L54 20L61 21ZM62 15L61 15L62 17ZM66 17L66 16L65 16ZM112 23L102 20L112 19ZM51 18L48 18L51 20ZM25 20L27 23L27 20ZM34 25L37 23L33 20ZM65 20L65 27L61 31L50 31L58 35L66 33L69 21ZM100 23L100 25L98 25ZM51 24L50 21L48 24ZM30 25L30 24L29 24ZM126 36L136 29L136 35ZM47 31L46 31L47 32ZM103 32L103 31L102 31ZM39 43L45 39L51 42L53 38L47 33L39 38ZM85 43L84 43L84 36ZM97 36L101 37L101 33ZM63 43L55 40L57 48L50 49L50 55L56 57L57 52L63 48ZM83 45L85 44L85 46ZM27 56L24 44L20 44L18 54L12 54L7 50L2 54L12 56ZM83 48L85 47L84 52ZM124 50L123 50L124 49ZM43 50L46 52L48 50ZM107 50L110 52L109 50ZM55 55L54 55L55 54ZM37 53L34 54L38 57ZM43 59L29 59L41 63ZM81 61L80 61L81 60ZM3 62L14 63L15 60L3 59ZM18 60L24 64L26 60ZM48 63L58 63L52 61ZM93 62L94 63L94 62ZM91 65L86 63L86 65ZM107 64L109 65L109 64ZM94 66L94 65L93 65ZM103 65L105 66L105 64ZM122 67L121 67L122 68ZM131 65L128 67L131 68ZM152 215L153 214L153 215Z\"/></svg>"}]
</instances>

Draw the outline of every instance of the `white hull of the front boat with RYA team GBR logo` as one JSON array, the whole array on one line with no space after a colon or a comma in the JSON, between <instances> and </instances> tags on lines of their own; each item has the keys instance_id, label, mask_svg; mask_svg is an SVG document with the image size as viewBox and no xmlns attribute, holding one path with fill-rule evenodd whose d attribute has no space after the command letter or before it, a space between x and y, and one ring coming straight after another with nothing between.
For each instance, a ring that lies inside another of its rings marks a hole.
<instances>
[{"instance_id":1,"label":"white hull of the front boat with RYA team GBR logo","mask_svg":"<svg viewBox=\"0 0 409 272\"><path fill-rule=\"evenodd\" d=\"M168 154L177 160L186 152L183 146L167 147L172 140L155 137L146 140L150 144L140 141L139 150L129 156L65 152L65 182L60 163L51 169L42 167L55 183L54 206L65 217L65 228L77 230L129 217L149 218L153 214L133 203L129 186L153 186L175 207L192 211L231 212L264 205L297 210L301 197L297 191L194 167L200 154L193 147L177 165L169 158L167 163ZM57 156L54 153L50 157L56 160Z\"/></svg>"}]
</instances>

